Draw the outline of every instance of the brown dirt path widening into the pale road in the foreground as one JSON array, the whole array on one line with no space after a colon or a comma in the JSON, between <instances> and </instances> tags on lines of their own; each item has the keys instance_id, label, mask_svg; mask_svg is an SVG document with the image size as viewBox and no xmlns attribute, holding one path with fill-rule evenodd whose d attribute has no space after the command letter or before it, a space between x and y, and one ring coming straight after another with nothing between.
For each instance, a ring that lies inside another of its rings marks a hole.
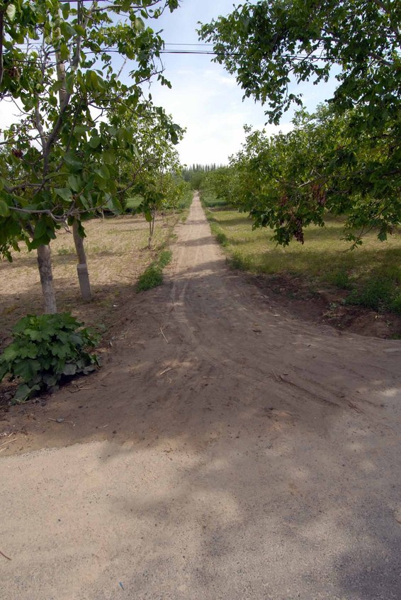
<instances>
[{"instance_id":1,"label":"brown dirt path widening into the pale road in the foreground","mask_svg":"<svg viewBox=\"0 0 401 600\"><path fill-rule=\"evenodd\" d=\"M0 454L1 597L399 600L400 342L271 304L197 198L178 233L101 372Z\"/></svg>"}]
</instances>

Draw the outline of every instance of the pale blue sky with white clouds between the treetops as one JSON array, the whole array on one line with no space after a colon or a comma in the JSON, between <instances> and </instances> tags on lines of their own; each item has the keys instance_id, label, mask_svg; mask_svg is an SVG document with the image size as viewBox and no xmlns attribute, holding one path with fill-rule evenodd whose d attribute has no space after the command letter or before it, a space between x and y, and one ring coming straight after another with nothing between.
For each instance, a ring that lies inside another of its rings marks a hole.
<instances>
[{"instance_id":1,"label":"pale blue sky with white clouds between the treetops","mask_svg":"<svg viewBox=\"0 0 401 600\"><path fill-rule=\"evenodd\" d=\"M199 44L198 22L208 23L219 15L232 11L234 0L181 0L179 9L165 11L157 21L149 22L154 30L162 30L166 50L202 50ZM236 0L235 4L239 4ZM211 50L211 48L205 48ZM240 150L244 142L244 125L265 128L267 133L291 128L293 113L286 113L280 126L266 123L264 108L252 99L242 100L243 91L237 85L234 75L228 74L221 65L214 63L210 55L169 55L162 59L164 76L169 79L172 89L153 82L144 91L150 91L154 104L163 106L174 121L186 128L186 134L178 145L183 165L200 163L209 165L227 164L230 155ZM115 65L116 69L120 65ZM125 67L122 79L128 77L129 65ZM128 79L127 79L128 81ZM314 86L303 84L303 99L308 110L332 96L335 80ZM5 128L17 119L16 106L1 101L0 127Z\"/></svg>"}]
</instances>

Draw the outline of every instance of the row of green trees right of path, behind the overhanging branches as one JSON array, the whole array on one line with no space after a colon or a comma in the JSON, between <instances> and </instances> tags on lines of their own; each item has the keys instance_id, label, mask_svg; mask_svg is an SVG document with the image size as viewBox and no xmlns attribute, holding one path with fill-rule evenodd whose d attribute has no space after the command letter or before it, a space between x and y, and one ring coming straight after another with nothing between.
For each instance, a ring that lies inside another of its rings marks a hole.
<instances>
[{"instance_id":1,"label":"row of green trees right of path, behind the overhanging branches","mask_svg":"<svg viewBox=\"0 0 401 600\"><path fill-rule=\"evenodd\" d=\"M385 162L395 148L392 135L349 139L353 111L338 116L330 106L299 111L290 133L268 136L245 128L242 149L230 166L203 182L221 199L247 211L254 227L270 227L273 239L303 243L305 227L324 225L327 213L343 215L346 239L362 243L375 229L380 240L400 223L400 185Z\"/></svg>"}]
</instances>

